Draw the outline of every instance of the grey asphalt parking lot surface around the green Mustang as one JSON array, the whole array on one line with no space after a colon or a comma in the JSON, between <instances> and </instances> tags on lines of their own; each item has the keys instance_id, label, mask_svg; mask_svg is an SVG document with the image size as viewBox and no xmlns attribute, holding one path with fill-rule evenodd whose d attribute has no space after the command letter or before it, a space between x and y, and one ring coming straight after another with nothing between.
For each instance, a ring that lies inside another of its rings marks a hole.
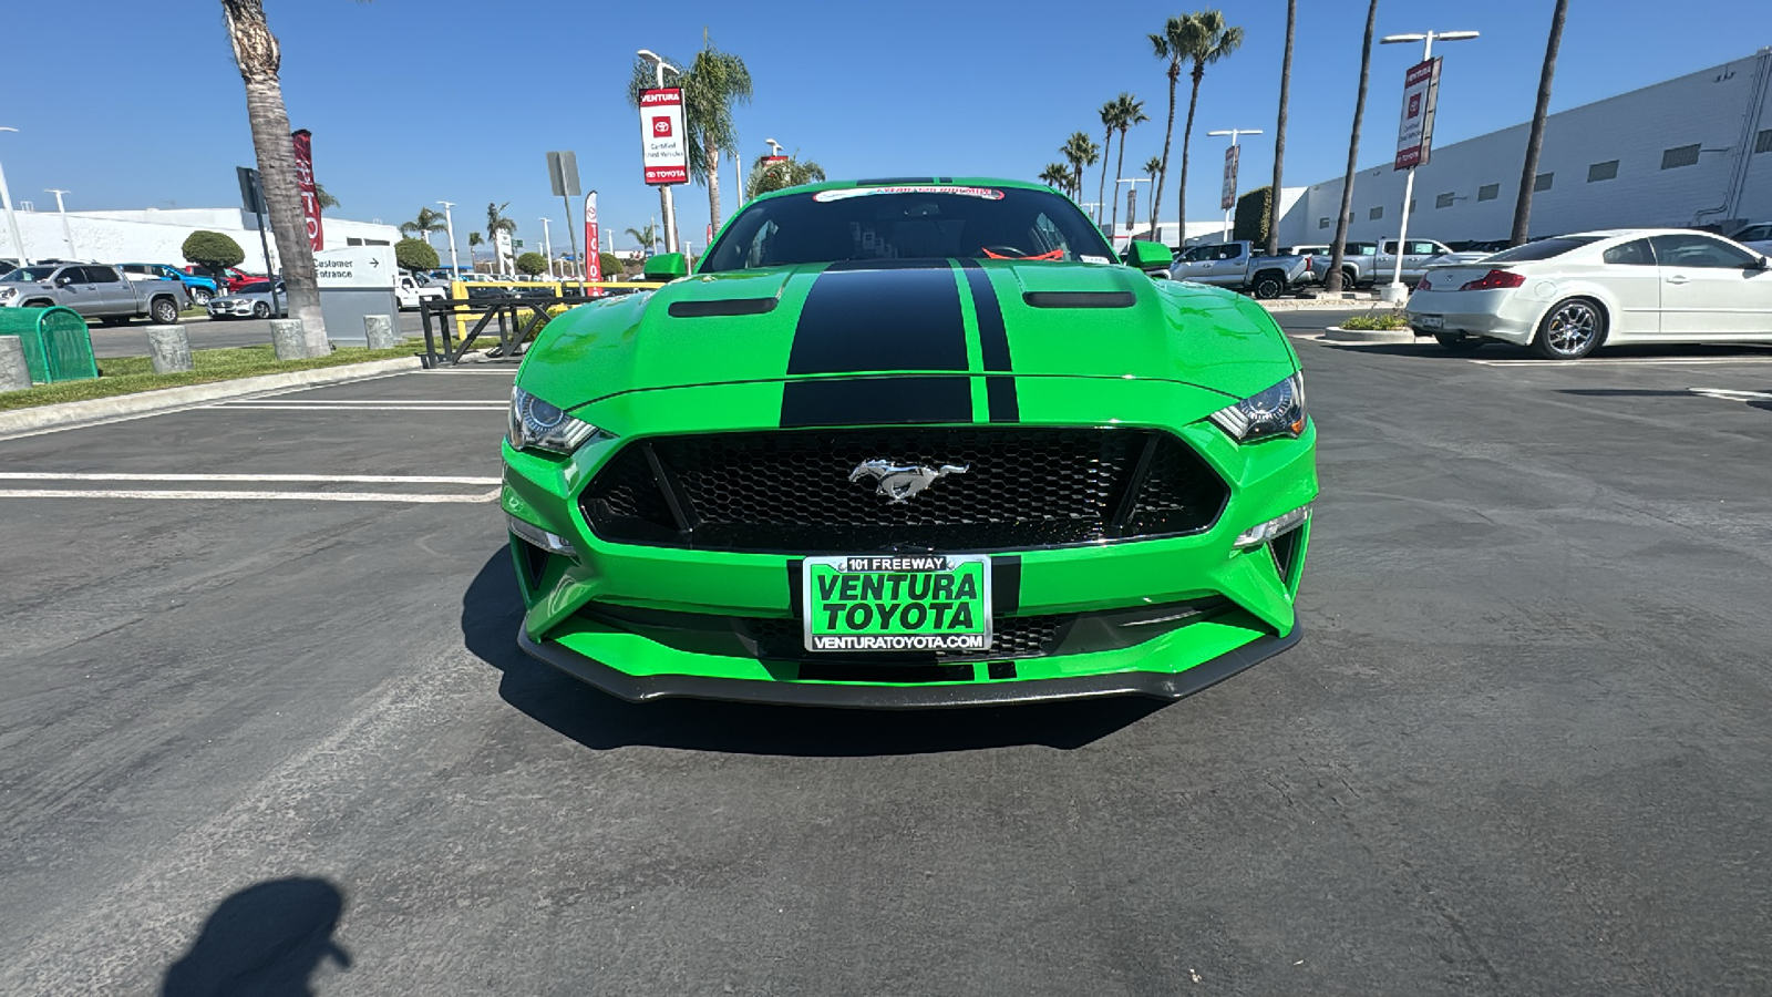
<instances>
[{"instance_id":1,"label":"grey asphalt parking lot surface around the green Mustang","mask_svg":"<svg viewBox=\"0 0 1772 997\"><path fill-rule=\"evenodd\" d=\"M1772 992L1772 351L1336 318L1306 637L1170 706L555 674L509 367L0 442L0 992Z\"/></svg>"}]
</instances>

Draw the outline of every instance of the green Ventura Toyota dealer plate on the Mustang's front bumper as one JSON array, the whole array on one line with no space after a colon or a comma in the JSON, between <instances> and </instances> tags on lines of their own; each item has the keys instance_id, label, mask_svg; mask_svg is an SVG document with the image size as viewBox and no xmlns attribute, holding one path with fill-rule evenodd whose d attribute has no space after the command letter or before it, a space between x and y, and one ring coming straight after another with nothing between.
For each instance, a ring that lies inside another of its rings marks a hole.
<instances>
[{"instance_id":1,"label":"green Ventura Toyota dealer plate on the Mustang's front bumper","mask_svg":"<svg viewBox=\"0 0 1772 997\"><path fill-rule=\"evenodd\" d=\"M808 651L991 648L991 559L982 553L808 557Z\"/></svg>"}]
</instances>

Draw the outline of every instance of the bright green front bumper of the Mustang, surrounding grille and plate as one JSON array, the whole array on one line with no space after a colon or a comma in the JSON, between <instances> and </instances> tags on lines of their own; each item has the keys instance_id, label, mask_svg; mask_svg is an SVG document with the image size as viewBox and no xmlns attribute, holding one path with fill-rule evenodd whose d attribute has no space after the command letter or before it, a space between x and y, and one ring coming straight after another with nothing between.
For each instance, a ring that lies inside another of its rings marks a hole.
<instances>
[{"instance_id":1,"label":"bright green front bumper of the Mustang, surrounding grille and plate","mask_svg":"<svg viewBox=\"0 0 1772 997\"><path fill-rule=\"evenodd\" d=\"M1154 385L1125 383L1120 396L1150 394L1152 412L1182 408ZM753 387L682 389L744 392ZM1054 387L1054 390L1058 390ZM1077 389L1072 389L1076 392ZM1180 390L1180 389L1173 389ZM638 424L656 433L680 431L672 404L679 390L643 392L656 410ZM780 397L780 389L776 389ZM1141 404L1127 404L1127 410ZM1131 413L1131 412L1129 412ZM615 412L608 412L615 417ZM620 431L611 419L592 422ZM1070 422L1065 419L1065 422ZM1256 523L1306 506L1317 497L1315 424L1297 440L1237 445L1200 420L1164 426L1191 445L1230 486L1214 525L1191 536L1118 543L1033 548L992 555L998 580L1014 577L1010 600L1001 593L998 616L1074 616L1166 603L1216 600L1221 610L1185 624L1152 626L1150 637L1065 644L1056 651L1003 658L982 655L943 663L943 674L881 679L895 665L845 672L859 655L766 656L757 646L735 649L734 619L785 623L797 617L794 598L799 557L735 553L672 546L608 543L595 536L579 509L590 479L626 442L592 442L572 458L516 452L503 447L503 511L551 532L572 552L544 550L512 534L516 575L526 607L519 644L530 655L606 692L634 701L668 695L746 699L819 706L966 706L1037 703L1100 695L1177 699L1235 674L1297 640L1294 596L1302 577L1310 523L1288 534L1290 546L1237 548L1235 538ZM1012 568L1012 573L1006 569ZM634 624L661 614L689 621L673 632ZM703 630L696 630L703 626ZM1081 623L1079 623L1081 626ZM718 640L716 640L718 637ZM725 640L725 644L723 644ZM826 663L833 667L820 667ZM927 672L927 669L923 669ZM868 678L849 678L867 672ZM833 678L835 676L835 678Z\"/></svg>"}]
</instances>

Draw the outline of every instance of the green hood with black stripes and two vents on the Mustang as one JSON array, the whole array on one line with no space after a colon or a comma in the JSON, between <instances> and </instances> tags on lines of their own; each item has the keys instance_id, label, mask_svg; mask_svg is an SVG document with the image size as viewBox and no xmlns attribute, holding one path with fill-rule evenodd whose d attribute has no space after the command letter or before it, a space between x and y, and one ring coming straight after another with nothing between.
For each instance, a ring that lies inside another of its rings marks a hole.
<instances>
[{"instance_id":1,"label":"green hood with black stripes and two vents on the Mustang","mask_svg":"<svg viewBox=\"0 0 1772 997\"><path fill-rule=\"evenodd\" d=\"M1115 264L937 259L698 275L583 305L539 335L519 383L562 408L893 374L1159 380L1246 397L1294 369L1272 319L1239 294Z\"/></svg>"}]
</instances>

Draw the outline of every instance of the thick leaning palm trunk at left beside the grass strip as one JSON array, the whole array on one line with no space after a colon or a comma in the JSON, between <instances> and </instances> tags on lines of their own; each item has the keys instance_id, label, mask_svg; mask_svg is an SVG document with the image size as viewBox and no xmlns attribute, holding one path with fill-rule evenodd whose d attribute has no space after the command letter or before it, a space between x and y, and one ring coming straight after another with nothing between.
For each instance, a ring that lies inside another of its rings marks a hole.
<instances>
[{"instance_id":1,"label":"thick leaning palm trunk at left beside the grass strip","mask_svg":"<svg viewBox=\"0 0 1772 997\"><path fill-rule=\"evenodd\" d=\"M271 229L285 236L278 239L278 250L284 286L289 291L289 314L301 319L308 357L324 357L331 353L331 342L326 339L326 318L321 314L314 247L305 238L308 225L296 186L296 147L289 140L289 108L284 106L284 85L276 78L284 51L264 21L264 0L222 0L222 21L234 48L234 64L246 82L246 122L252 126L252 149L259 160L259 183L264 188Z\"/></svg>"}]
</instances>

